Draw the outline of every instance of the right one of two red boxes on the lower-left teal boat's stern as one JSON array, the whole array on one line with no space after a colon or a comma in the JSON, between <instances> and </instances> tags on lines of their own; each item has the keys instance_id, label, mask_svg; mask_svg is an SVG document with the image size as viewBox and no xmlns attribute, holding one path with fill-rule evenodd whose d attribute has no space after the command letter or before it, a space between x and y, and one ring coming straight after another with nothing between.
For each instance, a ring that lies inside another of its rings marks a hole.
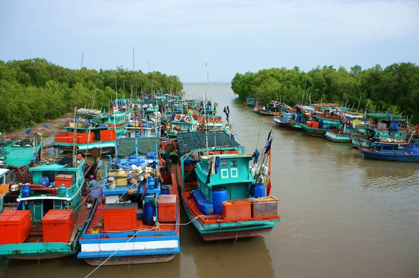
<instances>
[{"instance_id":1,"label":"right one of two red boxes on the lower-left teal boat's stern","mask_svg":"<svg viewBox=\"0 0 419 278\"><path fill-rule=\"evenodd\" d=\"M42 219L43 242L68 242L73 229L73 210L48 210Z\"/></svg>"}]
</instances>

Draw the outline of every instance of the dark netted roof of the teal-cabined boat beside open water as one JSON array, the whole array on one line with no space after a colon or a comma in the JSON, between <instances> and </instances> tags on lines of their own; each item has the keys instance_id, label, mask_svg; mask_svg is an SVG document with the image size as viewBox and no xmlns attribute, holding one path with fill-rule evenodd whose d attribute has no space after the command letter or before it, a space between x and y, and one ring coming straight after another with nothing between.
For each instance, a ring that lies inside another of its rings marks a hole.
<instances>
[{"instance_id":1,"label":"dark netted roof of the teal-cabined boat beside open water","mask_svg":"<svg viewBox=\"0 0 419 278\"><path fill-rule=\"evenodd\" d=\"M215 133L215 136L214 136ZM205 138L205 135L208 139ZM214 138L215 137L215 138ZM179 155L187 154L194 150L219 148L234 148L241 147L238 142L233 140L226 131L196 131L196 132L182 132L177 133L177 144L179 145Z\"/></svg>"}]
</instances>

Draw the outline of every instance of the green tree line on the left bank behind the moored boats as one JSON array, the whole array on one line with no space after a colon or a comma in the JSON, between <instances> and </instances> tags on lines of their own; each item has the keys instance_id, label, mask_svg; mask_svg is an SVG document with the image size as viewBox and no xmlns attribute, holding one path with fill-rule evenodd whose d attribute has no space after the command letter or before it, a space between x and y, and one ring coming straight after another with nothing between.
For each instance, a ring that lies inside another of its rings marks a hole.
<instances>
[{"instance_id":1,"label":"green tree line on the left bank behind the moored boats","mask_svg":"<svg viewBox=\"0 0 419 278\"><path fill-rule=\"evenodd\" d=\"M150 92L177 94L183 89L177 76L159 71L142 73L122 66L115 71L75 70L38 58L0 61L0 131L61 117L76 106L108 110L117 96L115 79L118 98L140 98Z\"/></svg>"}]
</instances>

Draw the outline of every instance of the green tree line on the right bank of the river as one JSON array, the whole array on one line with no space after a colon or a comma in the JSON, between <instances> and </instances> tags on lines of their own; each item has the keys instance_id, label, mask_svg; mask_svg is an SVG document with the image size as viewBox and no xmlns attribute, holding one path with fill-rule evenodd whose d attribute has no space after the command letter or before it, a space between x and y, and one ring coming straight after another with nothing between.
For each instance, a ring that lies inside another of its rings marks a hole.
<instances>
[{"instance_id":1,"label":"green tree line on the right bank of the river","mask_svg":"<svg viewBox=\"0 0 419 278\"><path fill-rule=\"evenodd\" d=\"M300 68L270 68L257 73L236 73L231 89L241 99L253 96L267 104L338 103L359 112L392 112L419 123L419 66L395 63L351 71L320 66L305 73Z\"/></svg>"}]
</instances>

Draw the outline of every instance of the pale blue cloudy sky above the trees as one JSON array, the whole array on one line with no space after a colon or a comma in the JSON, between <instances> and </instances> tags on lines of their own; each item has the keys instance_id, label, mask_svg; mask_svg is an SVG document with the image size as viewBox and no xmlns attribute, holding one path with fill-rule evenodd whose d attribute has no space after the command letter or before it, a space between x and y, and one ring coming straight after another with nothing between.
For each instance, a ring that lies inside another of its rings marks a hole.
<instances>
[{"instance_id":1,"label":"pale blue cloudy sky above the trees","mask_svg":"<svg viewBox=\"0 0 419 278\"><path fill-rule=\"evenodd\" d=\"M135 70L182 82L230 82L262 68L418 64L418 46L418 0L0 0L0 60L80 68L84 53L87 68L135 61Z\"/></svg>"}]
</instances>

